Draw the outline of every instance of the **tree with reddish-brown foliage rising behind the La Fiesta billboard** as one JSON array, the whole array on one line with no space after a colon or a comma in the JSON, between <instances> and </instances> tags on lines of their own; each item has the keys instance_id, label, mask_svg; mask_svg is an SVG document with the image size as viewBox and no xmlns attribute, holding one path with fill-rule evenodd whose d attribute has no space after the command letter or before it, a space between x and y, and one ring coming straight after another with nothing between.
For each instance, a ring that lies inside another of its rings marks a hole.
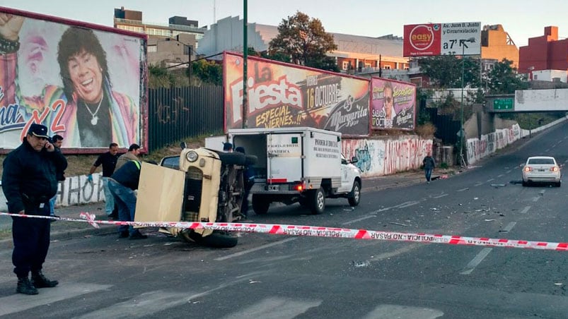
<instances>
[{"instance_id":1,"label":"tree with reddish-brown foliage rising behind the La Fiesta billboard","mask_svg":"<svg viewBox=\"0 0 568 319\"><path fill-rule=\"evenodd\" d=\"M337 69L337 64L326 54L336 49L333 35L325 32L319 19L297 11L296 15L282 19L268 53L270 59L288 56L293 64L330 70Z\"/></svg>"}]
</instances>

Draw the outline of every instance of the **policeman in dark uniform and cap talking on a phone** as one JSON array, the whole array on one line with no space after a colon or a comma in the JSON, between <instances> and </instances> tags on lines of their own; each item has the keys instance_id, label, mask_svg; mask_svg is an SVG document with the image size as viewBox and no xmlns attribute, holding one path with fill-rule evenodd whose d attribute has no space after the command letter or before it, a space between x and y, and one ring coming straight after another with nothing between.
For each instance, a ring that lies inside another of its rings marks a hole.
<instances>
[{"instance_id":1,"label":"policeman in dark uniform and cap talking on a phone","mask_svg":"<svg viewBox=\"0 0 568 319\"><path fill-rule=\"evenodd\" d=\"M8 154L3 165L2 191L8 200L8 211L49 216L50 198L57 193L56 171L65 169L67 160L49 142L47 127L32 124L22 145ZM16 292L37 294L37 288L57 286L57 280L47 279L42 274L42 265L50 248L50 220L12 219L12 263L18 276Z\"/></svg>"}]
</instances>

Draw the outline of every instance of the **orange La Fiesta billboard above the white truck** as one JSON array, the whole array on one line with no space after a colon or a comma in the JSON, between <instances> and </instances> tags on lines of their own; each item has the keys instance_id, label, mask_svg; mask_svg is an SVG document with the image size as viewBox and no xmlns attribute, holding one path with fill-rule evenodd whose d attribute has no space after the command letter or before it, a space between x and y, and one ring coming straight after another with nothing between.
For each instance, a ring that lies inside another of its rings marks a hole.
<instances>
[{"instance_id":1,"label":"orange La Fiesta billboard above the white truck","mask_svg":"<svg viewBox=\"0 0 568 319\"><path fill-rule=\"evenodd\" d=\"M369 135L369 79L248 57L248 128ZM243 127L243 56L224 54L225 128Z\"/></svg>"}]
</instances>

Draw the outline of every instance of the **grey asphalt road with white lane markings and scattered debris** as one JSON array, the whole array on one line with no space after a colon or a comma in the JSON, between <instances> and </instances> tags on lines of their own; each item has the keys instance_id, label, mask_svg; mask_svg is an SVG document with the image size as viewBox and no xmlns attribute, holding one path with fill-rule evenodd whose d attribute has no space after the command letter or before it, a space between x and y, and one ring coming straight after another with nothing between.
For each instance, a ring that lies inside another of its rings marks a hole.
<instances>
[{"instance_id":1,"label":"grey asphalt road with white lane markings and scattered debris","mask_svg":"<svg viewBox=\"0 0 568 319\"><path fill-rule=\"evenodd\" d=\"M568 190L523 187L531 155L568 162L568 124L450 179L367 189L352 210L277 207L250 222L565 242ZM0 251L0 315L11 318L567 318L567 251L239 234L212 249L86 236L52 243L59 287L14 294Z\"/></svg>"}]
</instances>

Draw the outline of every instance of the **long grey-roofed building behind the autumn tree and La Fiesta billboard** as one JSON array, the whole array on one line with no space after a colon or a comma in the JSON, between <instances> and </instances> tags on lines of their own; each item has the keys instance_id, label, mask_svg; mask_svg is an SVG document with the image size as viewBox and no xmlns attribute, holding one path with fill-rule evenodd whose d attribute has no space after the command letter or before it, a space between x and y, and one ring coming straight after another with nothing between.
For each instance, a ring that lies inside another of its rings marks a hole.
<instances>
[{"instance_id":1,"label":"long grey-roofed building behind the autumn tree and La Fiesta billboard","mask_svg":"<svg viewBox=\"0 0 568 319\"><path fill-rule=\"evenodd\" d=\"M257 52L268 49L270 40L278 35L275 25L248 23L247 45ZM361 73L382 69L405 70L409 67L408 59L402 57L402 38L388 35L385 37L362 37L331 33L337 50L328 55L335 57L337 66L344 73ZM210 25L197 53L207 56L224 51L243 52L243 20L227 17Z\"/></svg>"}]
</instances>

